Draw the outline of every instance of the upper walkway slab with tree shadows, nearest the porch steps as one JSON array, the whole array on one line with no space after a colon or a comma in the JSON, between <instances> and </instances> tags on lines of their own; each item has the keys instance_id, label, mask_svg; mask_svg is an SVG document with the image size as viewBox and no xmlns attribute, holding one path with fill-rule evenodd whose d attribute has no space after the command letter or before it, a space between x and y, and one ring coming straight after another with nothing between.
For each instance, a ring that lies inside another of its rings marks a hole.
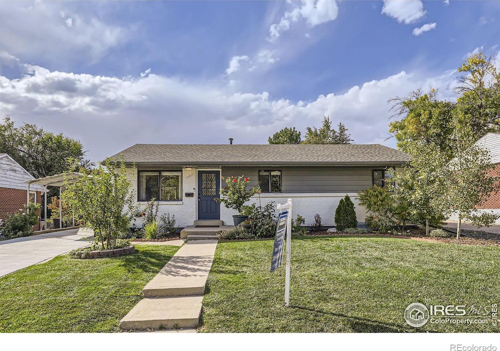
<instances>
[{"instance_id":1,"label":"upper walkway slab with tree shadows, nearest the porch steps","mask_svg":"<svg viewBox=\"0 0 500 351\"><path fill-rule=\"evenodd\" d=\"M187 242L142 289L144 297L203 295L216 246L216 240Z\"/></svg>"}]
</instances>

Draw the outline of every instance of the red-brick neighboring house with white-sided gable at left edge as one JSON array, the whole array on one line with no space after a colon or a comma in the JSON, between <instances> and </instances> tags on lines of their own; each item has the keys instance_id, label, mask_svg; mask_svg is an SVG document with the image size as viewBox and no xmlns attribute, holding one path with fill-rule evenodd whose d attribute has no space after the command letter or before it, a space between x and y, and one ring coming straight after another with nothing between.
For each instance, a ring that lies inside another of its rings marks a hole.
<instances>
[{"instance_id":1,"label":"red-brick neighboring house with white-sided gable at left edge","mask_svg":"<svg viewBox=\"0 0 500 351\"><path fill-rule=\"evenodd\" d=\"M0 220L16 213L27 203L26 182L32 179L35 178L9 155L0 153ZM42 186L31 186L29 201L41 203L43 191ZM39 228L36 226L33 229Z\"/></svg>"}]
</instances>

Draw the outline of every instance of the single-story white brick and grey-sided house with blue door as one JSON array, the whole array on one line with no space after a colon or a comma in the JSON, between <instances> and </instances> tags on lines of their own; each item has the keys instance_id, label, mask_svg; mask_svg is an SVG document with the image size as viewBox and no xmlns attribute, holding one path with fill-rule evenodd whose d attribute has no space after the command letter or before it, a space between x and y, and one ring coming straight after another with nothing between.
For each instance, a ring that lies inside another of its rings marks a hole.
<instances>
[{"instance_id":1,"label":"single-story white brick and grey-sided house with blue door","mask_svg":"<svg viewBox=\"0 0 500 351\"><path fill-rule=\"evenodd\" d=\"M136 144L111 158L123 156L130 169L137 202L160 201L159 214L175 215L185 227L195 220L220 219L232 225L235 211L213 199L225 184L221 176L250 178L262 190L251 200L293 200L293 217L309 225L314 215L324 226L334 225L338 202L348 194L359 222L365 210L357 206L357 192L383 185L384 170L400 167L409 156L382 145L154 145Z\"/></svg>"}]
</instances>

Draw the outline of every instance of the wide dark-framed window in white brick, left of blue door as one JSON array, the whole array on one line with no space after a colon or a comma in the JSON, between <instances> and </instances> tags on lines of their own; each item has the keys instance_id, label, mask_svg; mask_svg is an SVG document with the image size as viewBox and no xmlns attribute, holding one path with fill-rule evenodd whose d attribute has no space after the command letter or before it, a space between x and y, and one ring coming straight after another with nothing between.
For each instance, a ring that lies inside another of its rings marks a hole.
<instances>
[{"instance_id":1,"label":"wide dark-framed window in white brick, left of blue door","mask_svg":"<svg viewBox=\"0 0 500 351\"><path fill-rule=\"evenodd\" d=\"M182 200L182 173L176 171L140 171L138 201Z\"/></svg>"}]
</instances>

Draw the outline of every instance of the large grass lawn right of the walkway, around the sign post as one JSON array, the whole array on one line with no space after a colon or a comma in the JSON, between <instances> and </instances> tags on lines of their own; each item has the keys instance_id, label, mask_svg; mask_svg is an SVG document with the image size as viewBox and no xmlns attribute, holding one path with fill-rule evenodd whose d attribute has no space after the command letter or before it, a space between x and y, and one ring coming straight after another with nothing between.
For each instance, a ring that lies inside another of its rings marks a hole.
<instances>
[{"instance_id":1,"label":"large grass lawn right of the walkway, around the sign post","mask_svg":"<svg viewBox=\"0 0 500 351\"><path fill-rule=\"evenodd\" d=\"M273 242L219 243L203 299L202 332L500 332L500 326L403 318L413 302L500 304L500 248L393 238L294 238L290 307ZM500 307L500 305L499 305ZM500 323L499 323L500 324Z\"/></svg>"}]
</instances>

